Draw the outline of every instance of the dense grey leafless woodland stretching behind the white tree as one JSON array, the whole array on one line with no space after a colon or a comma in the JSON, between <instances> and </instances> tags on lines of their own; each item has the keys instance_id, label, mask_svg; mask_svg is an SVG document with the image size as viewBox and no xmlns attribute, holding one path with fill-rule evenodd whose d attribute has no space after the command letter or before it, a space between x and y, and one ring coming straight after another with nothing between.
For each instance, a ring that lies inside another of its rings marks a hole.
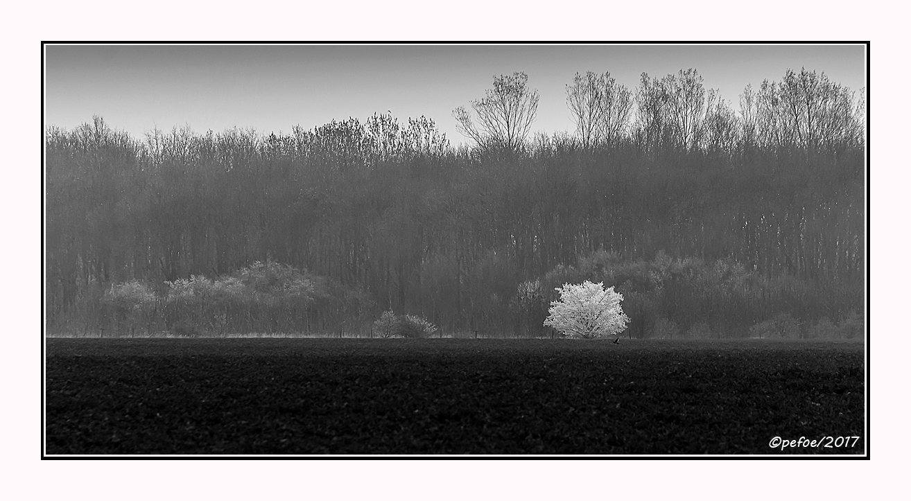
<instances>
[{"instance_id":1,"label":"dense grey leafless woodland stretching behind the white tree","mask_svg":"<svg viewBox=\"0 0 911 501\"><path fill-rule=\"evenodd\" d=\"M735 111L695 70L589 73L567 86L577 133L548 137L523 77L495 79L475 127L456 109L457 148L389 115L47 128L47 332L363 333L393 310L539 336L554 287L592 280L632 337L860 335L863 91L789 71ZM485 120L497 93L527 123Z\"/></svg>"}]
</instances>

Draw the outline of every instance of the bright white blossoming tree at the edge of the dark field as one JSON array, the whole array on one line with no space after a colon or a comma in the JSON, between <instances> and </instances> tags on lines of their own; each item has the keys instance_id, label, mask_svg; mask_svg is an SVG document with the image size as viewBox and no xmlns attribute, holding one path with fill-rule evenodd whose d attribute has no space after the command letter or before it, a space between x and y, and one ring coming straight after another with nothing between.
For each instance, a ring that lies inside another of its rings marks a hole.
<instances>
[{"instance_id":1,"label":"bright white blossoming tree at the edge of the dark field","mask_svg":"<svg viewBox=\"0 0 911 501\"><path fill-rule=\"evenodd\" d=\"M570 338L601 338L626 329L630 317L623 312L623 295L604 282L565 283L558 287L560 300L550 303L550 316L545 325Z\"/></svg>"}]
</instances>

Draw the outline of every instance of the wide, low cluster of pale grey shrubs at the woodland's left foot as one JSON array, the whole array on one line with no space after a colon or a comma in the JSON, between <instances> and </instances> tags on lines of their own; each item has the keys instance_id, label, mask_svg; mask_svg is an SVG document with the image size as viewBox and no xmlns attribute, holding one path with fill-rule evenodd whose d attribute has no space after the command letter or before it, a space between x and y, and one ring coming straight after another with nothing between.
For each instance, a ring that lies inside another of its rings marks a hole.
<instances>
[{"instance_id":1,"label":"wide, low cluster of pale grey shrubs at the woodland's left foot","mask_svg":"<svg viewBox=\"0 0 911 501\"><path fill-rule=\"evenodd\" d=\"M229 332L341 332L361 325L373 302L363 291L275 261L254 262L231 275L112 285L102 298L100 326L115 335L143 331L177 336Z\"/></svg>"}]
</instances>

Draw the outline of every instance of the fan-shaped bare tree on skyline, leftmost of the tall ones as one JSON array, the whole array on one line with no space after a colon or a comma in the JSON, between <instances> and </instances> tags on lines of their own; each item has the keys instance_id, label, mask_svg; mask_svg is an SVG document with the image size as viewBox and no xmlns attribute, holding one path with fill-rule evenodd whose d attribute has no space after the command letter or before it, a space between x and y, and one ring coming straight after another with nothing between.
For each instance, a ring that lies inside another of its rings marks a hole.
<instances>
[{"instance_id":1,"label":"fan-shaped bare tree on skyline, leftmost of the tall ones","mask_svg":"<svg viewBox=\"0 0 911 501\"><path fill-rule=\"evenodd\" d=\"M471 101L478 127L466 107L456 107L456 128L480 146L516 150L537 115L537 90L529 89L527 83L525 73L494 77L494 88L487 89L485 97Z\"/></svg>"}]
</instances>

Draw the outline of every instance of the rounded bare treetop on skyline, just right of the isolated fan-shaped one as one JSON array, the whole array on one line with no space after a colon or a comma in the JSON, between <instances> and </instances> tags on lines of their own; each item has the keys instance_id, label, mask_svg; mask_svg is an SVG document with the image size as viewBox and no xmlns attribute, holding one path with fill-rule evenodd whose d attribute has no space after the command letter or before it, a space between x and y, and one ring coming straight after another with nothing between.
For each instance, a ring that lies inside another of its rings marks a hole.
<instances>
[{"instance_id":1,"label":"rounded bare treetop on skyline, just right of the isolated fan-shaped one","mask_svg":"<svg viewBox=\"0 0 911 501\"><path fill-rule=\"evenodd\" d=\"M602 140L613 142L626 129L632 109L632 93L617 80L604 75L587 72L585 77L578 73L573 85L567 86L567 106L582 146L590 148Z\"/></svg>"}]
</instances>

